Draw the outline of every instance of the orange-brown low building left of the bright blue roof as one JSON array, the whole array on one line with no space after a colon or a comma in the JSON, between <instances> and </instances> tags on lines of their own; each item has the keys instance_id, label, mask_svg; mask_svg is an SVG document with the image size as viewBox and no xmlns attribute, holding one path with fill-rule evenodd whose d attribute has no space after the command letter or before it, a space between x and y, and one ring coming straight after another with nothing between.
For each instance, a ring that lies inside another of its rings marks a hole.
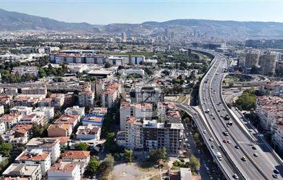
<instances>
[{"instance_id":1,"label":"orange-brown low building left of the bright blue roof","mask_svg":"<svg viewBox=\"0 0 283 180\"><path fill-rule=\"evenodd\" d=\"M48 129L48 137L69 137L72 134L71 124L51 124Z\"/></svg>"}]
</instances>

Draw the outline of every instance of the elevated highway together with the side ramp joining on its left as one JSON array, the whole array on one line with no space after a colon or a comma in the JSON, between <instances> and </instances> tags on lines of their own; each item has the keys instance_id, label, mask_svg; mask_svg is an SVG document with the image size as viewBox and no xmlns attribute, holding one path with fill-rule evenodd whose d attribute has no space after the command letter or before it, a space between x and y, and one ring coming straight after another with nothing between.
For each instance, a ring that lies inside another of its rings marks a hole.
<instances>
[{"instance_id":1,"label":"elevated highway together with the side ramp joining on its left","mask_svg":"<svg viewBox=\"0 0 283 180\"><path fill-rule=\"evenodd\" d=\"M188 106L178 106L188 114L191 113L191 117L195 119L219 168L227 179L283 179L282 159L277 157L264 141L257 143L254 134L247 130L224 102L221 85L224 70L228 69L226 57L207 50L197 51L214 56L199 86L202 112ZM233 125L227 126L228 121ZM222 154L221 161L217 158L217 152Z\"/></svg>"}]
</instances>

